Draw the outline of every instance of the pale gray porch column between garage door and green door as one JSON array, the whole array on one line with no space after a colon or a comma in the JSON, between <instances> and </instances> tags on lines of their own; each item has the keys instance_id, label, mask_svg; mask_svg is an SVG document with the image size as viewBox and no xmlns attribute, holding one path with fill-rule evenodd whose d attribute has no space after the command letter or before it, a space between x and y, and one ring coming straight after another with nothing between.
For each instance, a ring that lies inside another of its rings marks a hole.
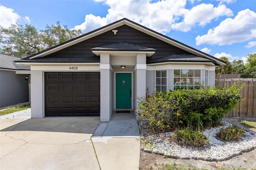
<instances>
[{"instance_id":1,"label":"pale gray porch column between garage door and green door","mask_svg":"<svg viewBox=\"0 0 256 170\"><path fill-rule=\"evenodd\" d=\"M100 121L108 122L113 111L112 78L110 55L100 54Z\"/></svg>"}]
</instances>

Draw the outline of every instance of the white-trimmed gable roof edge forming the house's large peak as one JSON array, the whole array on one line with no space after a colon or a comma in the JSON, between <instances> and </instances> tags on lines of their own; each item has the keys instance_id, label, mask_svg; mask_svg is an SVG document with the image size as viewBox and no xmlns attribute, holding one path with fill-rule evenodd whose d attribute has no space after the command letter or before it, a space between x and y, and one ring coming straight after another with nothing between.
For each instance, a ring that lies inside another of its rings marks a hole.
<instances>
[{"instance_id":1,"label":"white-trimmed gable roof edge forming the house's large peak","mask_svg":"<svg viewBox=\"0 0 256 170\"><path fill-rule=\"evenodd\" d=\"M153 31L153 30L151 30L149 28L146 28L146 27L144 27L144 26L142 26L142 25L140 25L140 24L138 24L136 22L128 20L127 18L123 18L121 20L113 22L112 24L108 24L108 25L106 25L106 26L104 26L102 28L98 28L98 29L96 29L96 30L94 30L92 32L88 32L87 34L84 34L82 36L79 36L79 37L74 38L72 40L69 40L67 42L64 42L64 43L61 43L59 45L56 45L56 46L54 46L52 48L49 48L49 49L46 49L46 50L41 51L39 53L36 53L34 55L31 55L31 56L25 58L25 60L44 57L46 55L49 55L51 53L54 53L56 51L59 51L59 50L64 49L66 47L69 47L71 45L74 45L76 43L82 42L84 40L88 40L88 39L90 39L92 37L98 36L100 34L103 34L105 32L108 32L108 31L110 31L112 29L115 29L115 28L123 26L123 25L130 26L130 27L132 27L132 28L134 28L136 30L144 32L145 34L148 34L148 35L150 35L150 36L152 36L154 38L162 40L162 41L164 41L166 43L169 43L171 45L174 45L175 47L178 47L180 49L188 51L188 52L190 52L190 53L192 53L194 55L197 55L199 57L210 59L210 60L214 61L214 63L216 63L216 65L225 65L226 64L226 62L222 61L221 59L218 59L216 57L213 57L212 55L209 55L209 54L206 54L206 53L204 53L202 51L194 49L193 47L190 47L190 46L188 46L188 45L186 45L184 43L178 42L178 41L176 41L176 40L174 40L172 38L169 38L169 37L167 37L167 36L165 36L163 34L160 34L160 33L156 32L156 31ZM21 62L21 61L18 61L18 62Z\"/></svg>"}]
</instances>

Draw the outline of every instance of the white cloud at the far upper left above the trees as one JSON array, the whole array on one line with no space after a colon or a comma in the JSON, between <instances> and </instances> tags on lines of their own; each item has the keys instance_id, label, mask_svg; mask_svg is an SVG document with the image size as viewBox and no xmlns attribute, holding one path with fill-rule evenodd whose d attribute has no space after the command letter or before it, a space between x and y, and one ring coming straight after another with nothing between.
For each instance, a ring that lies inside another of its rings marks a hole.
<instances>
[{"instance_id":1,"label":"white cloud at the far upper left above the trees","mask_svg":"<svg viewBox=\"0 0 256 170\"><path fill-rule=\"evenodd\" d=\"M6 8L5 6L0 5L0 26L8 28L11 24L15 24L20 16L13 12L14 9Z\"/></svg>"}]
</instances>

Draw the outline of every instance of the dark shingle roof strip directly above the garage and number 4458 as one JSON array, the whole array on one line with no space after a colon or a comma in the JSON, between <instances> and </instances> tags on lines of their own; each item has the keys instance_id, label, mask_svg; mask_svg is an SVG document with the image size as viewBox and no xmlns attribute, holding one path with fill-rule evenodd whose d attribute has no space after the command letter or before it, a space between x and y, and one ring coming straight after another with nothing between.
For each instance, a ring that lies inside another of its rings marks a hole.
<instances>
[{"instance_id":1,"label":"dark shingle roof strip directly above the garage and number 4458","mask_svg":"<svg viewBox=\"0 0 256 170\"><path fill-rule=\"evenodd\" d=\"M99 57L93 57L93 58L82 58L82 57L42 57L37 59L22 59L19 62L46 62L46 63L99 63L100 58Z\"/></svg>"}]
</instances>

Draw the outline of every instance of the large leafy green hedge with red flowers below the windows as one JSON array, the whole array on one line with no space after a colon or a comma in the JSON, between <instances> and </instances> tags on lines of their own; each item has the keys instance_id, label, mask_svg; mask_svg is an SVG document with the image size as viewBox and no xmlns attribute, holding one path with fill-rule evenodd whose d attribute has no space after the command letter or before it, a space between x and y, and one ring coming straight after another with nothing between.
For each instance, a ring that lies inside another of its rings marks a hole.
<instances>
[{"instance_id":1,"label":"large leafy green hedge with red flowers below the windows","mask_svg":"<svg viewBox=\"0 0 256 170\"><path fill-rule=\"evenodd\" d=\"M152 130L166 132L179 126L217 126L231 109L240 102L240 89L234 83L230 89L176 89L155 92L138 99L136 112L148 121Z\"/></svg>"}]
</instances>

